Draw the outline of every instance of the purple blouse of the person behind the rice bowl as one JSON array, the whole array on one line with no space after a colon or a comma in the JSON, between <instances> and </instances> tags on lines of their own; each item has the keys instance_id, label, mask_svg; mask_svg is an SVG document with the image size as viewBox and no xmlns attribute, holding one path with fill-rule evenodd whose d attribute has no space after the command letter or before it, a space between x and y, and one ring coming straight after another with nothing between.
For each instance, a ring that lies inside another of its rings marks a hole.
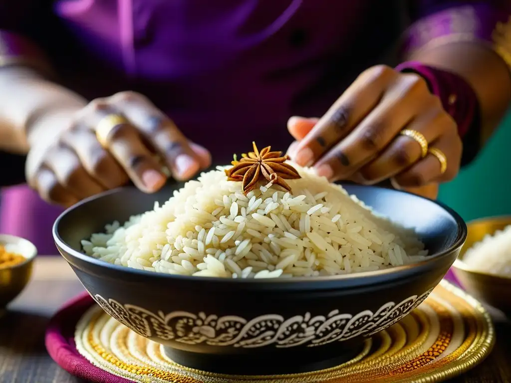
<instances>
[{"instance_id":1,"label":"purple blouse of the person behind the rice bowl","mask_svg":"<svg viewBox=\"0 0 511 383\"><path fill-rule=\"evenodd\" d=\"M397 64L393 43L400 36L413 51L443 43L467 22L470 28L461 28L466 38L507 52L505 38L499 43L492 36L496 25L505 30L509 15L500 1L47 3L0 0L0 66L20 57L37 65L38 46L60 82L88 99L142 92L210 149L215 162L229 160L229 148L249 148L251 140L287 148L291 115L320 116L361 70ZM467 9L485 11L479 17ZM27 237L42 254L55 253L51 224L59 211L25 186L6 188L0 232Z\"/></svg>"}]
</instances>

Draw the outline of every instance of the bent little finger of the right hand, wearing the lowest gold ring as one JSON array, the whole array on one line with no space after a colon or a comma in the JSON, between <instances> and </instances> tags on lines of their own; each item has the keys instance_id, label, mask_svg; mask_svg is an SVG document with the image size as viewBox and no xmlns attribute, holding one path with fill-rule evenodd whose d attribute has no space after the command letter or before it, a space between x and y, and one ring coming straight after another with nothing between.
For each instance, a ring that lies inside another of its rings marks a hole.
<instances>
[{"instance_id":1,"label":"bent little finger of the right hand, wearing the lowest gold ring","mask_svg":"<svg viewBox=\"0 0 511 383\"><path fill-rule=\"evenodd\" d=\"M454 134L445 135L433 142L430 148L435 148L446 156L447 168L442 173L441 163L431 153L410 166L406 171L393 178L393 184L399 188L420 187L433 182L452 180L458 173L462 144L461 139Z\"/></svg>"}]
</instances>

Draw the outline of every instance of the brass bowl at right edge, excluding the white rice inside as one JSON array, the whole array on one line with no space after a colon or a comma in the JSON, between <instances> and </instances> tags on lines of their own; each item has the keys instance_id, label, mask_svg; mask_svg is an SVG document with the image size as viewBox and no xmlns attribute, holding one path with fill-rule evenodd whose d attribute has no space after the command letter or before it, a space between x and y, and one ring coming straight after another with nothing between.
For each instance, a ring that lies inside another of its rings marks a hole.
<instances>
[{"instance_id":1,"label":"brass bowl at right edge, excluding the white rice inside","mask_svg":"<svg viewBox=\"0 0 511 383\"><path fill-rule=\"evenodd\" d=\"M494 234L508 225L511 225L511 216L482 218L467 223L467 241L452 267L454 275L468 293L507 314L511 313L511 277L473 270L463 262L463 256L486 234Z\"/></svg>"}]
</instances>

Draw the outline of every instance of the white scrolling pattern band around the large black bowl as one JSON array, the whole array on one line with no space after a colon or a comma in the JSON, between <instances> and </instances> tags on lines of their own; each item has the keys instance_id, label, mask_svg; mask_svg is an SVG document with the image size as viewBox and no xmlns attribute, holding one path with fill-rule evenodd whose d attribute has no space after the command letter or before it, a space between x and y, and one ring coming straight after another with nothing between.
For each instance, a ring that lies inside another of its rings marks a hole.
<instances>
[{"instance_id":1,"label":"white scrolling pattern band around the large black bowl","mask_svg":"<svg viewBox=\"0 0 511 383\"><path fill-rule=\"evenodd\" d=\"M346 341L358 336L371 336L398 322L419 306L431 293L413 295L396 304L387 302L375 313L364 310L356 315L333 310L327 316L311 313L284 318L265 314L251 320L238 316L192 314L174 311L152 313L132 304L95 295L96 302L113 318L143 337L195 345L256 348L273 345L278 348L308 347Z\"/></svg>"}]
</instances>

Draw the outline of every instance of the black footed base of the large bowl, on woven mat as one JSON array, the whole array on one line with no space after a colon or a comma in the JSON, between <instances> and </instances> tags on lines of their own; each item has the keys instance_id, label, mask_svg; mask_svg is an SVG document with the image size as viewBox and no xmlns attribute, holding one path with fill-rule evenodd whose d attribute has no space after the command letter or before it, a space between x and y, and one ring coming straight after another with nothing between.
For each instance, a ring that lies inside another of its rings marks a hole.
<instances>
[{"instance_id":1,"label":"black footed base of the large bowl, on woven mat","mask_svg":"<svg viewBox=\"0 0 511 383\"><path fill-rule=\"evenodd\" d=\"M268 350L268 352L257 355L252 353L203 354L165 347L165 353L177 364L201 371L228 375L281 375L311 372L339 366L360 354L363 347L363 342L357 342L352 344L351 347L330 348L327 352L311 348L307 350L302 348L302 352L294 350L290 352L289 349L281 348L277 352ZM332 355L335 356L332 357Z\"/></svg>"}]
</instances>

